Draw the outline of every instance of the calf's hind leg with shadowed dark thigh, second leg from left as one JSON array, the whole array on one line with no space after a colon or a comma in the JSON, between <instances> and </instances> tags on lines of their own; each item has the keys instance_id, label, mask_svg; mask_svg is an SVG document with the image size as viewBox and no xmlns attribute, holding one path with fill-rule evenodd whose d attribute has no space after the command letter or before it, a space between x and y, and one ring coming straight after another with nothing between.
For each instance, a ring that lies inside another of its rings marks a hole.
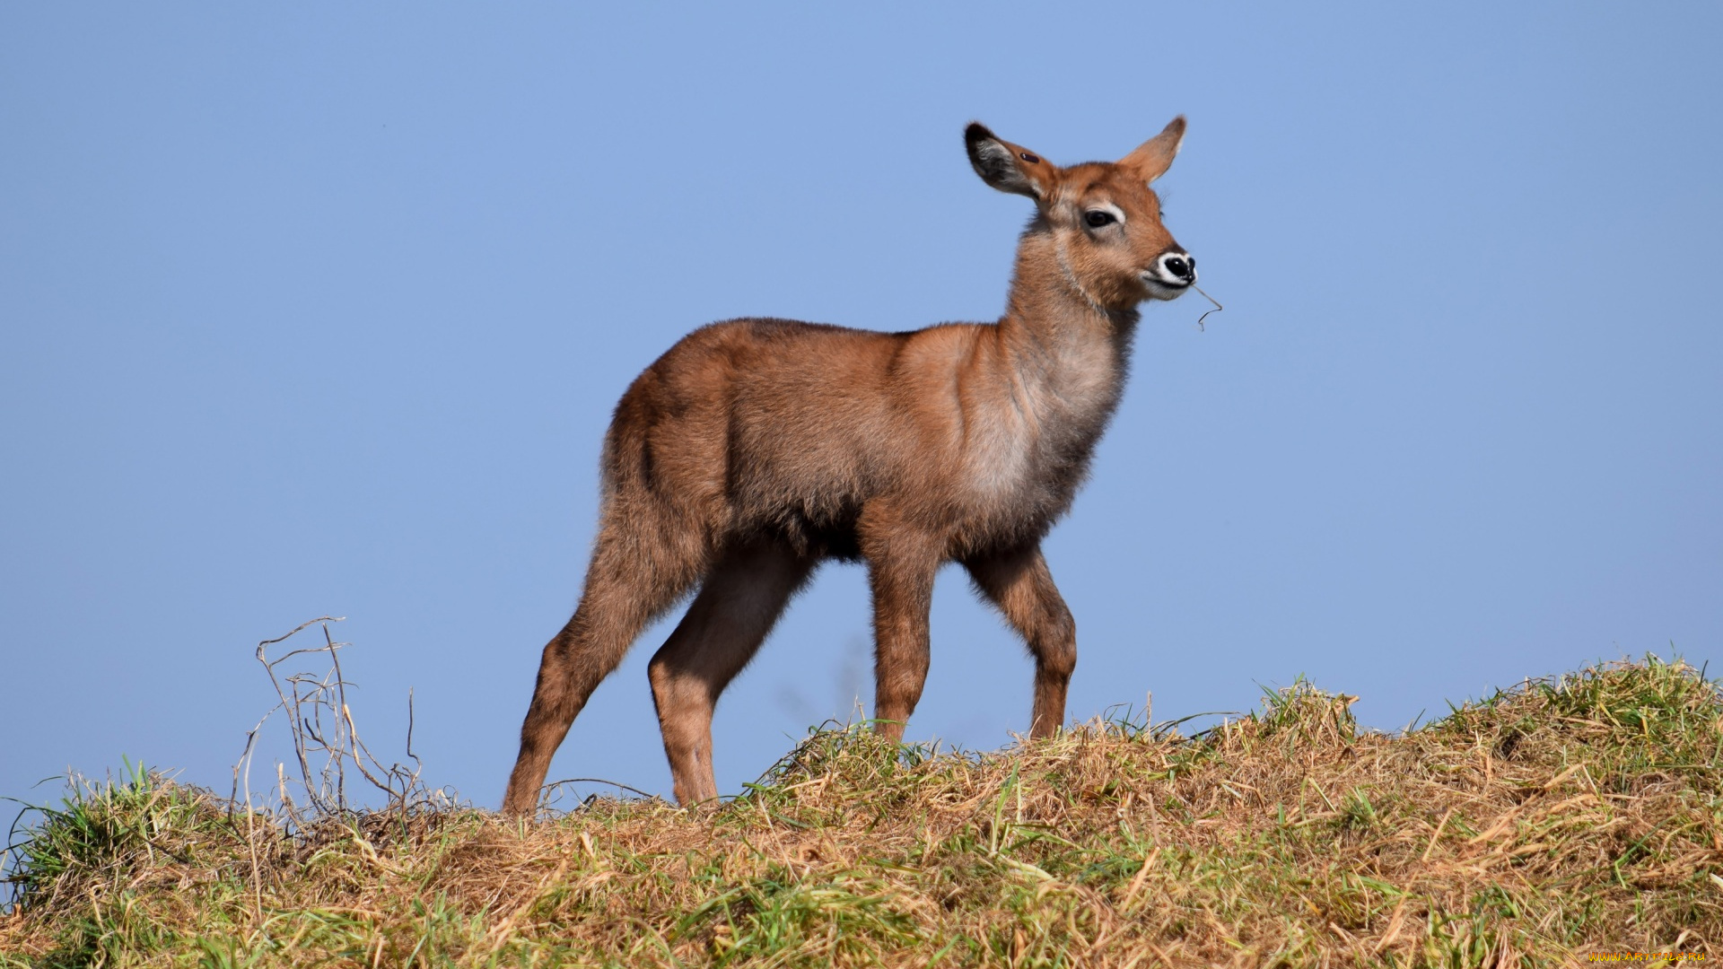
<instances>
[{"instance_id":1,"label":"calf's hind leg with shadowed dark thigh, second leg from left","mask_svg":"<svg viewBox=\"0 0 1723 969\"><path fill-rule=\"evenodd\" d=\"M729 552L651 657L648 676L677 802L691 805L718 797L712 774L712 712L718 693L748 666L812 571L813 560L782 545Z\"/></svg>"}]
</instances>

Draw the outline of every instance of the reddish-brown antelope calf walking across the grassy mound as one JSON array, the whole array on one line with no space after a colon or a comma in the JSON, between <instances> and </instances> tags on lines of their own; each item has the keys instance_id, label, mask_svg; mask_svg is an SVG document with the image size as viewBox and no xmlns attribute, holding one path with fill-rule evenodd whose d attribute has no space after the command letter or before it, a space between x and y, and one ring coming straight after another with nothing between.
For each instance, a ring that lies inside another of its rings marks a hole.
<instances>
[{"instance_id":1,"label":"reddish-brown antelope calf walking across the grassy mound","mask_svg":"<svg viewBox=\"0 0 1723 969\"><path fill-rule=\"evenodd\" d=\"M1041 540L1118 407L1137 305L1196 283L1149 183L1184 117L1117 162L1058 167L980 124L975 174L1036 203L1005 316L910 333L732 319L684 336L617 403L586 588L544 647L503 810L656 616L700 588L651 660L675 797L718 795L712 710L825 559L874 597L874 717L893 740L927 679L934 572L960 562L1036 659L1030 736L1065 719L1077 636Z\"/></svg>"}]
</instances>

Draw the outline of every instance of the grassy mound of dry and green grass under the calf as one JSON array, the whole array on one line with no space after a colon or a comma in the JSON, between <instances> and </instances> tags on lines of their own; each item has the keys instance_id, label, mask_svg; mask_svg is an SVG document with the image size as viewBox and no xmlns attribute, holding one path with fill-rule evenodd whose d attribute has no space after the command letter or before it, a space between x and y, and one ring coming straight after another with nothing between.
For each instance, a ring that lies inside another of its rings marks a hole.
<instances>
[{"instance_id":1,"label":"grassy mound of dry and green grass under the calf","mask_svg":"<svg viewBox=\"0 0 1723 969\"><path fill-rule=\"evenodd\" d=\"M14 850L0 966L1566 966L1723 953L1723 698L1647 659L1358 733L817 733L722 807L293 833L138 772Z\"/></svg>"}]
</instances>

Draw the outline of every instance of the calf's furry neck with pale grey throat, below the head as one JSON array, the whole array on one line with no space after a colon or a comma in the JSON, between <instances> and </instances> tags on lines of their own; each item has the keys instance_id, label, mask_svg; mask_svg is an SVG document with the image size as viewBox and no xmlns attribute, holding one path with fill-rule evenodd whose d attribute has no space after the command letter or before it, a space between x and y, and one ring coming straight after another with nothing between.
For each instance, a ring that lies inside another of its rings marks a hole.
<instances>
[{"instance_id":1,"label":"calf's furry neck with pale grey throat, below the head","mask_svg":"<svg viewBox=\"0 0 1723 969\"><path fill-rule=\"evenodd\" d=\"M1099 431L1118 407L1135 331L1137 310L1103 307L1053 233L1023 234L999 336L1039 417Z\"/></svg>"}]
</instances>

